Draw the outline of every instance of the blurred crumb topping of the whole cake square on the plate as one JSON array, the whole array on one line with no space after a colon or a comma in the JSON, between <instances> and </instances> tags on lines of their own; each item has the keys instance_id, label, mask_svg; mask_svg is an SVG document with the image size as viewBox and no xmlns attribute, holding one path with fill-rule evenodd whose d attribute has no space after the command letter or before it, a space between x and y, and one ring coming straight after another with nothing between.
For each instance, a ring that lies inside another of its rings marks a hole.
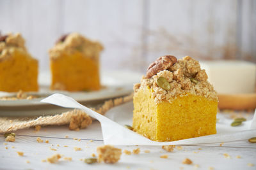
<instances>
[{"instance_id":1,"label":"blurred crumb topping of the whole cake square on the plate","mask_svg":"<svg viewBox=\"0 0 256 170\"><path fill-rule=\"evenodd\" d=\"M84 38L81 34L73 32L62 36L54 47L49 50L52 60L58 59L63 53L72 54L81 52L86 57L93 60L99 60L99 53L103 50L103 46L97 41L91 41Z\"/></svg>"}]
</instances>

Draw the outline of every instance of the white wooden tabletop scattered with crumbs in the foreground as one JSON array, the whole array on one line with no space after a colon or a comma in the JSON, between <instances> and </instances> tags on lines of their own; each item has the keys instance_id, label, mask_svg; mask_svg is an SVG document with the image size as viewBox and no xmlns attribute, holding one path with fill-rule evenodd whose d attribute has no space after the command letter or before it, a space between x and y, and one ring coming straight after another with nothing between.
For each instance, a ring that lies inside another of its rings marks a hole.
<instances>
[{"instance_id":1,"label":"white wooden tabletop scattered with crumbs in the foreground","mask_svg":"<svg viewBox=\"0 0 256 170\"><path fill-rule=\"evenodd\" d=\"M223 145L182 145L182 149L175 148L173 152L166 152L161 146L116 146L130 151L140 148L141 152L139 155L122 153L117 164L88 165L81 159L92 157L92 153L96 154L97 146L104 145L97 121L80 131L69 131L67 126L48 126L42 127L39 132L35 132L33 128L19 130L16 135L16 141L13 143L5 142L3 135L0 137L0 169L256 169L256 143L246 140ZM44 143L38 143L38 137L44 139ZM73 138L79 138L81 141ZM49 143L45 143L45 139L49 140ZM82 150L75 151L74 147ZM145 150L150 150L150 153L145 153ZM17 152L24 152L24 156L20 157ZM42 162L54 153L72 157L72 160L60 159L57 164ZM225 157L224 153L229 156ZM168 155L168 159L160 158L164 154ZM193 164L182 164L182 160L186 158L191 159ZM250 166L252 164L254 166Z\"/></svg>"}]
</instances>

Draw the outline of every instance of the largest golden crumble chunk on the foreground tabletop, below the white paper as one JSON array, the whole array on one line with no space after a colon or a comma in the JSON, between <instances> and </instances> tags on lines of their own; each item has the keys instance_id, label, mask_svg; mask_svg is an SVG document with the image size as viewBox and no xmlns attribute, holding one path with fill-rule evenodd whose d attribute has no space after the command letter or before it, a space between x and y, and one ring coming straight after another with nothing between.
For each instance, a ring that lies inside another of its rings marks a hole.
<instances>
[{"instance_id":1,"label":"largest golden crumble chunk on the foreground tabletop, below the white paper","mask_svg":"<svg viewBox=\"0 0 256 170\"><path fill-rule=\"evenodd\" d=\"M97 153L99 155L98 162L114 164L120 159L122 150L111 145L104 145L97 148Z\"/></svg>"}]
</instances>

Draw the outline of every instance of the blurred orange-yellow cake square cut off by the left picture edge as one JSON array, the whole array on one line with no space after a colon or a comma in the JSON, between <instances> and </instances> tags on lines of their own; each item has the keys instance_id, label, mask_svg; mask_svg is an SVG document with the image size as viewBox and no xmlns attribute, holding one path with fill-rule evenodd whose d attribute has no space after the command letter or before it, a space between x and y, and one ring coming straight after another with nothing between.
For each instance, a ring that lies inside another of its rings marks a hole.
<instances>
[{"instance_id":1,"label":"blurred orange-yellow cake square cut off by the left picture edge","mask_svg":"<svg viewBox=\"0 0 256 170\"><path fill-rule=\"evenodd\" d=\"M17 34L0 35L0 91L37 91L38 61L33 59Z\"/></svg>"}]
</instances>

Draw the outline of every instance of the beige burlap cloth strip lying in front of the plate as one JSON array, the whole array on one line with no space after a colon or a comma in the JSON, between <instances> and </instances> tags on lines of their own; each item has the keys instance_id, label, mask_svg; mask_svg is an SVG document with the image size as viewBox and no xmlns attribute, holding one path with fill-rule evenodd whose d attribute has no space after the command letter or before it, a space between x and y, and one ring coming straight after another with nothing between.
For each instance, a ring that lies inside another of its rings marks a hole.
<instances>
[{"instance_id":1,"label":"beige burlap cloth strip lying in front of the plate","mask_svg":"<svg viewBox=\"0 0 256 170\"><path fill-rule=\"evenodd\" d=\"M104 115L111 108L118 106L120 104L126 103L132 100L133 94L125 97L119 97L116 99L109 99L105 101L102 106L99 108L91 108L95 110L97 113ZM72 116L76 114L76 110L67 111L65 113L61 113L59 115L53 116L42 116L35 118L10 118L10 117L0 117L0 132L13 132L19 129L25 129L29 127L33 127L36 125L65 125L69 124Z\"/></svg>"}]
</instances>

